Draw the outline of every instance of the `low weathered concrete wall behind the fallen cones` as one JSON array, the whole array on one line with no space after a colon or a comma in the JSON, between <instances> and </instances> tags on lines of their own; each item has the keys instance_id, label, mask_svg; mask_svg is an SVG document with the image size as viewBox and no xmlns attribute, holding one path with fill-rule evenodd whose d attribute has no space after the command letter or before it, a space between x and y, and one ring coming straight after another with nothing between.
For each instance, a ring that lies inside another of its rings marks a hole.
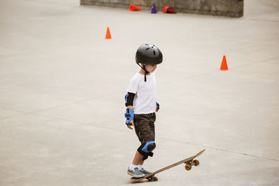
<instances>
[{"instance_id":1,"label":"low weathered concrete wall behind the fallen cones","mask_svg":"<svg viewBox=\"0 0 279 186\"><path fill-rule=\"evenodd\" d=\"M153 4L157 11L170 6L177 13L195 13L202 15L222 15L228 17L243 16L243 0L80 0L81 5L110 6L128 8L135 4L142 10L151 11Z\"/></svg>"}]
</instances>

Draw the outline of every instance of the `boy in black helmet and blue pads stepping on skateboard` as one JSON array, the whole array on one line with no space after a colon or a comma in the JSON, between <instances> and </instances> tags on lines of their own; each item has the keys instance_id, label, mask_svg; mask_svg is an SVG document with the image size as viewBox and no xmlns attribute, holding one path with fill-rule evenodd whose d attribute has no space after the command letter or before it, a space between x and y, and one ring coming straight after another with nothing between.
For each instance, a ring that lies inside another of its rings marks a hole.
<instances>
[{"instance_id":1,"label":"boy in black helmet and blue pads stepping on skateboard","mask_svg":"<svg viewBox=\"0 0 279 186\"><path fill-rule=\"evenodd\" d=\"M153 72L162 63L163 54L155 45L144 44L137 49L135 59L142 69L134 75L127 88L125 118L127 127L130 130L135 128L142 144L128 167L128 175L141 178L151 173L142 165L147 157L153 156L152 150L156 148L155 111L158 111L160 105L156 102L156 79Z\"/></svg>"}]
</instances>

